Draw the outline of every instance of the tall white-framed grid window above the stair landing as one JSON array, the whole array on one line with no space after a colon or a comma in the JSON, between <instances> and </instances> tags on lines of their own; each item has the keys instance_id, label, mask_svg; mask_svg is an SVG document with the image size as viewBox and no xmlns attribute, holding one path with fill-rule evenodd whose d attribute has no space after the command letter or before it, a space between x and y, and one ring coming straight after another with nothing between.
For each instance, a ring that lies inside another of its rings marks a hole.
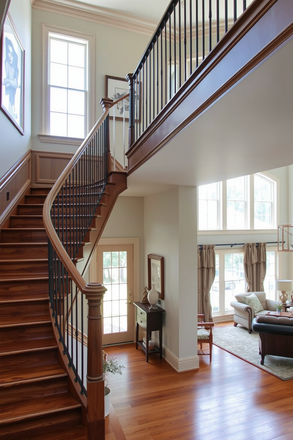
<instances>
[{"instance_id":1,"label":"tall white-framed grid window above the stair landing","mask_svg":"<svg viewBox=\"0 0 293 440\"><path fill-rule=\"evenodd\" d=\"M84 139L94 124L93 37L43 25L43 134Z\"/></svg>"}]
</instances>

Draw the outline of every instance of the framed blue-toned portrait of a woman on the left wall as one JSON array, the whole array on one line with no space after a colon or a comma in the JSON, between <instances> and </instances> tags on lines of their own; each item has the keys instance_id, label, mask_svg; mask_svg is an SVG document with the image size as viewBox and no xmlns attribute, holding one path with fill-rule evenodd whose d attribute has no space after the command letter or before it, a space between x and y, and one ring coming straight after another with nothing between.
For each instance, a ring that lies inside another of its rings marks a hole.
<instances>
[{"instance_id":1,"label":"framed blue-toned portrait of a woman on the left wall","mask_svg":"<svg viewBox=\"0 0 293 440\"><path fill-rule=\"evenodd\" d=\"M1 110L23 135L25 51L9 14L4 22L0 49Z\"/></svg>"}]
</instances>

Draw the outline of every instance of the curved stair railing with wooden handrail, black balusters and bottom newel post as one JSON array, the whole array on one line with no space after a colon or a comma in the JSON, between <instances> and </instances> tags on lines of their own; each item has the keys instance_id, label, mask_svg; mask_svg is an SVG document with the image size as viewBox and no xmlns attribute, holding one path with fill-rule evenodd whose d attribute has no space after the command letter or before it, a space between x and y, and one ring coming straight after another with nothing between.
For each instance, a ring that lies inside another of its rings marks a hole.
<instances>
[{"instance_id":1,"label":"curved stair railing with wooden handrail, black balusters and bottom newel post","mask_svg":"<svg viewBox=\"0 0 293 440\"><path fill-rule=\"evenodd\" d=\"M56 180L43 206L43 223L48 235L52 318L75 381L80 384L81 393L87 396L89 432L90 422L102 426L104 419L101 301L106 288L101 283L85 282L75 263L79 260L83 241L89 241L89 231L96 231L98 205L108 184L112 163L109 109L128 96L115 102L109 98L101 99L103 114ZM77 301L78 295L85 296L88 306L86 372L85 306L83 299Z\"/></svg>"}]
</instances>

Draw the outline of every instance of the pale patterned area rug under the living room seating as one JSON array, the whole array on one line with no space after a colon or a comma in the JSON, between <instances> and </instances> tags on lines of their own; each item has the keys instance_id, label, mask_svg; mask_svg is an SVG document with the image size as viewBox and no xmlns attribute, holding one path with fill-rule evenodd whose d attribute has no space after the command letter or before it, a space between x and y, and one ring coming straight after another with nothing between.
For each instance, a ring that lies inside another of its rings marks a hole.
<instances>
[{"instance_id":1,"label":"pale patterned area rug under the living room seating","mask_svg":"<svg viewBox=\"0 0 293 440\"><path fill-rule=\"evenodd\" d=\"M244 327L213 327L213 344L283 381L293 379L293 359L266 355L260 365L258 334Z\"/></svg>"}]
</instances>

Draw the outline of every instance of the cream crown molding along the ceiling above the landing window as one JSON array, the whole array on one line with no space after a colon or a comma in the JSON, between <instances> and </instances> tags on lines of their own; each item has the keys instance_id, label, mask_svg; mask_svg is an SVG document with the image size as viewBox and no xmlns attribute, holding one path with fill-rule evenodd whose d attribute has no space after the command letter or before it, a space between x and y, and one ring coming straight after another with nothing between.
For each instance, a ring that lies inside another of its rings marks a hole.
<instances>
[{"instance_id":1,"label":"cream crown molding along the ceiling above the landing window","mask_svg":"<svg viewBox=\"0 0 293 440\"><path fill-rule=\"evenodd\" d=\"M76 0L32 0L32 7L152 36L158 23Z\"/></svg>"}]
</instances>

